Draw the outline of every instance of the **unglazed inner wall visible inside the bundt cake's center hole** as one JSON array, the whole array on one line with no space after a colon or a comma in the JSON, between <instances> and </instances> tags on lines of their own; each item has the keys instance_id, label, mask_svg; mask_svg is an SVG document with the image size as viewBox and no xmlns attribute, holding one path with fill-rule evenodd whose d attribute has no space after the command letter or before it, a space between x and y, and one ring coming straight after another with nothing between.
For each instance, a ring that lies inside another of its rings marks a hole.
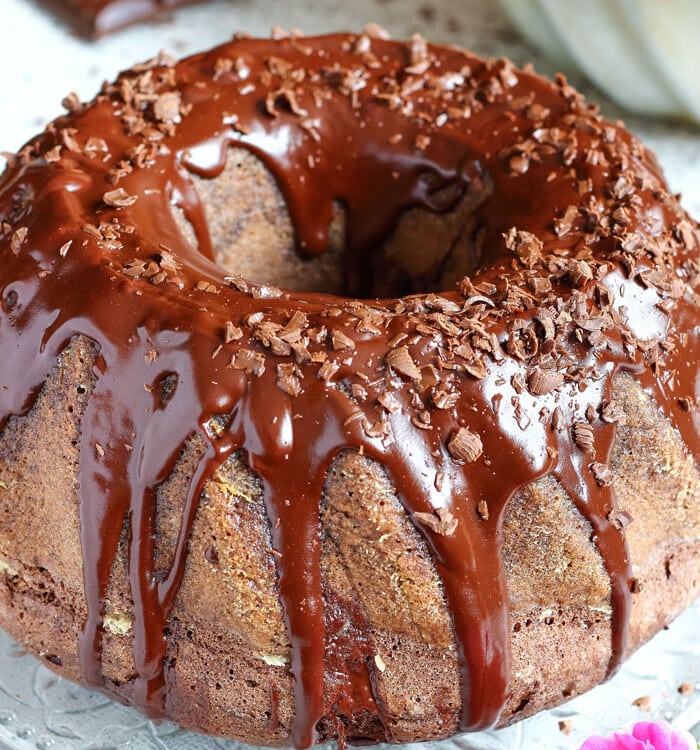
<instances>
[{"instance_id":1,"label":"unglazed inner wall visible inside the bundt cake's center hole","mask_svg":"<svg viewBox=\"0 0 700 750\"><path fill-rule=\"evenodd\" d=\"M215 179L192 175L207 216L215 260L227 274L299 292L352 297L398 297L453 289L473 270L479 231L470 217L479 196L467 193L452 211L407 211L393 234L362 258L350 257L345 243L345 212L334 206L329 246L305 258L284 198L273 175L245 149L231 149ZM184 214L175 209L182 232L197 238Z\"/></svg>"}]
</instances>

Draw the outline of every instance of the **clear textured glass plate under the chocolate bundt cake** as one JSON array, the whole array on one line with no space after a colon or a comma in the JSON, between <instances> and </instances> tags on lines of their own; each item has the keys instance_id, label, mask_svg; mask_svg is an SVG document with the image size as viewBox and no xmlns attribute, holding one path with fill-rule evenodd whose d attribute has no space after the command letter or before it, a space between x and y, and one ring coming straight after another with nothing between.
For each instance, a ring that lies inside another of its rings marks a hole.
<instances>
[{"instance_id":1,"label":"clear textured glass plate under the chocolate bundt cake","mask_svg":"<svg viewBox=\"0 0 700 750\"><path fill-rule=\"evenodd\" d=\"M692 692L679 687L690 683ZM651 709L633 704L648 696ZM642 647L609 682L503 730L405 745L408 750L575 750L593 733L666 719L700 739L700 600ZM559 729L570 725L570 734ZM100 693L62 680L0 631L0 748L9 750L246 750L236 742L155 725Z\"/></svg>"}]
</instances>

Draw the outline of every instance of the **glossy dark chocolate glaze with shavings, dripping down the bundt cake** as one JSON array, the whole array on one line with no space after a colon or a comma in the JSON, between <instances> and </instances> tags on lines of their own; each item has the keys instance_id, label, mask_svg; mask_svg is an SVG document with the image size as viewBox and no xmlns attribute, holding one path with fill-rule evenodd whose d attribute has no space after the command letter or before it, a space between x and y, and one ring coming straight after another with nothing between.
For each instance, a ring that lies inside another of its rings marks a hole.
<instances>
[{"instance_id":1,"label":"glossy dark chocolate glaze with shavings, dripping down the bundt cake","mask_svg":"<svg viewBox=\"0 0 700 750\"><path fill-rule=\"evenodd\" d=\"M104 600L128 519L130 700L162 715L164 629L189 532L206 481L239 450L261 477L277 553L297 747L314 742L329 685L338 714L382 721L364 614L324 598L319 507L345 449L381 463L433 554L462 666L462 729L494 725L508 698L501 525L513 494L548 474L610 575L613 672L633 588L607 466L622 418L614 375L634 373L698 449L698 233L653 157L565 81L418 38L238 39L139 66L71 109L0 181L0 416L31 409L71 337L98 346L79 466L84 681L104 686ZM450 210L488 186L473 276L371 301L228 276L190 174L215 178L232 145L276 176L302 254L324 252L342 203L350 295L369 293L406 209ZM349 395L352 384L368 397ZM193 435L206 449L159 579L157 490Z\"/></svg>"}]
</instances>

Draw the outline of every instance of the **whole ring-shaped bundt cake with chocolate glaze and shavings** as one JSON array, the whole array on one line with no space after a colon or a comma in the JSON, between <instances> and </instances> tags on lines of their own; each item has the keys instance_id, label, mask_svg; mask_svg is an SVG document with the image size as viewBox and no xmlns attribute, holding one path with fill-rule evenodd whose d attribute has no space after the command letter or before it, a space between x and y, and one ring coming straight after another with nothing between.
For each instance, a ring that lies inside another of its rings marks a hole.
<instances>
[{"instance_id":1,"label":"whole ring-shaped bundt cake with chocolate glaze and shavings","mask_svg":"<svg viewBox=\"0 0 700 750\"><path fill-rule=\"evenodd\" d=\"M438 738L697 595L700 233L563 78L370 28L65 104L0 179L0 625L52 669Z\"/></svg>"}]
</instances>

